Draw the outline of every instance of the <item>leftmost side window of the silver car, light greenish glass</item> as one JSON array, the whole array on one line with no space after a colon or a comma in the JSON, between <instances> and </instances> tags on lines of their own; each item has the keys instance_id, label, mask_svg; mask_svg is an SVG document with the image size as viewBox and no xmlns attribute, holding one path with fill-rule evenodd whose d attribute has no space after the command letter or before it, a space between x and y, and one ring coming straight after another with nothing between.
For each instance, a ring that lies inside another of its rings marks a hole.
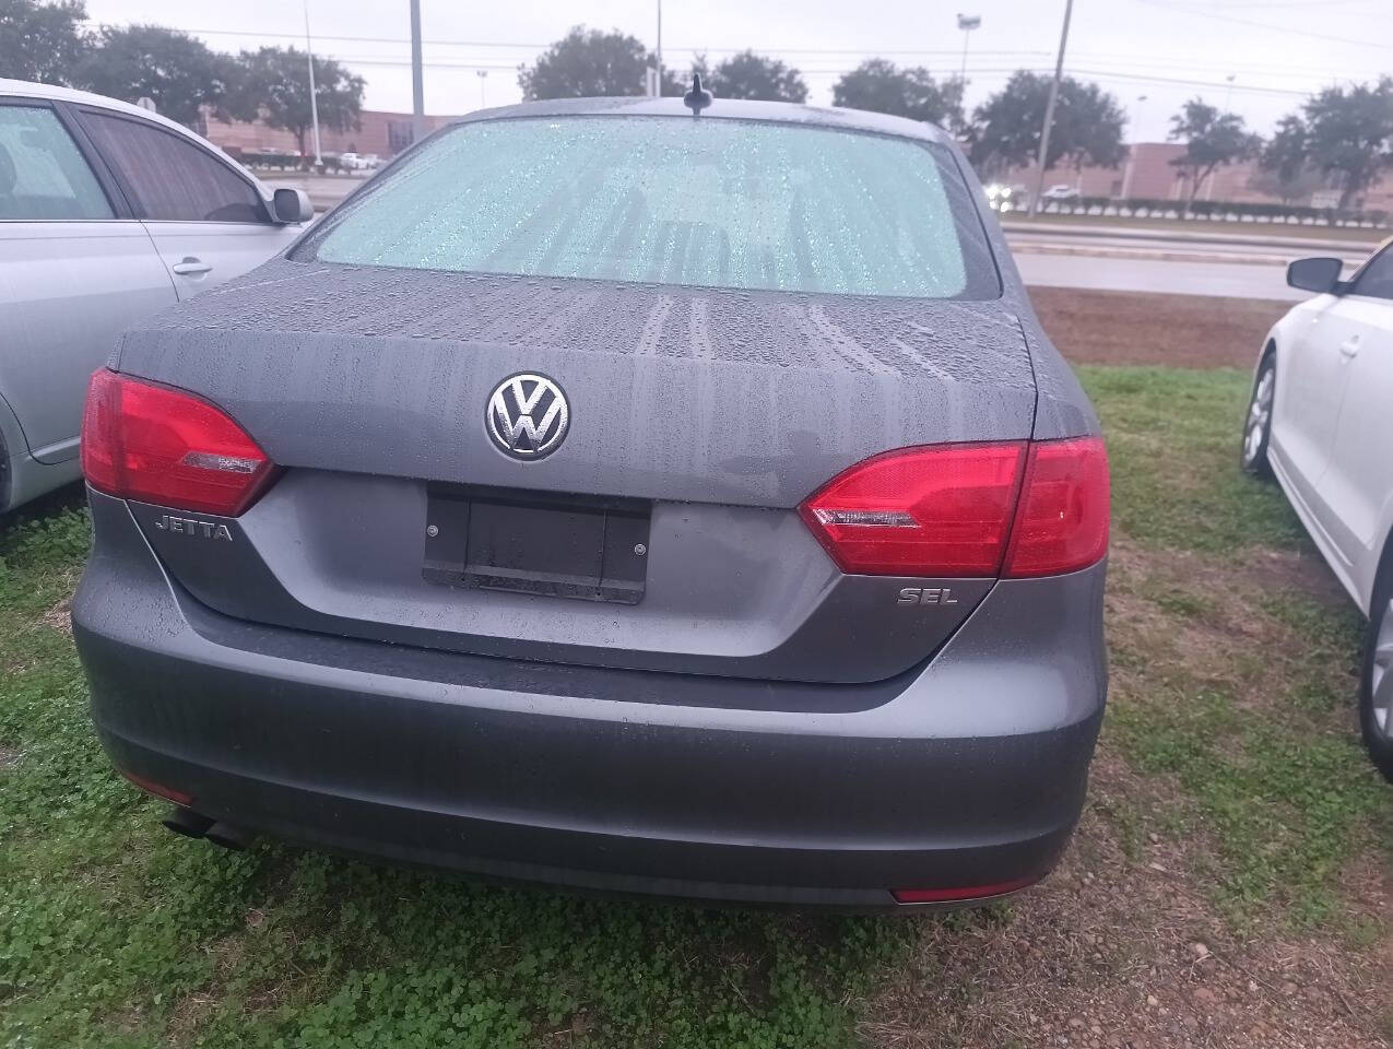
<instances>
[{"instance_id":1,"label":"leftmost side window of the silver car, light greenish glass","mask_svg":"<svg viewBox=\"0 0 1393 1049\"><path fill-rule=\"evenodd\" d=\"M46 106L0 106L0 219L111 219L77 143Z\"/></svg>"}]
</instances>

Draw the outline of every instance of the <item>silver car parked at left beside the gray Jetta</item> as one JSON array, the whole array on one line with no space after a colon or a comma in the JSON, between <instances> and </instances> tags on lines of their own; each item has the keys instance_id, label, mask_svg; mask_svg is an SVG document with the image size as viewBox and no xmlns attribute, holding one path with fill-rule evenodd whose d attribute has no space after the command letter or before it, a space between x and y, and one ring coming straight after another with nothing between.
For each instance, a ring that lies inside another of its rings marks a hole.
<instances>
[{"instance_id":1,"label":"silver car parked at left beside the gray Jetta","mask_svg":"<svg viewBox=\"0 0 1393 1049\"><path fill-rule=\"evenodd\" d=\"M283 249L313 216L171 120L0 79L0 513L75 481L117 336Z\"/></svg>"}]
</instances>

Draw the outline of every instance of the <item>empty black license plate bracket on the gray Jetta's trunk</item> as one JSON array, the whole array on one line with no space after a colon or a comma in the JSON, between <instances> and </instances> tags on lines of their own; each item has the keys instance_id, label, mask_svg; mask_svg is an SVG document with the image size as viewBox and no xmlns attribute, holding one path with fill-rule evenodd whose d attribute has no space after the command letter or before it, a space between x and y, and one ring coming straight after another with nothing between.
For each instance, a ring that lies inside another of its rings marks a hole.
<instances>
[{"instance_id":1,"label":"empty black license plate bracket on the gray Jetta's trunk","mask_svg":"<svg viewBox=\"0 0 1393 1049\"><path fill-rule=\"evenodd\" d=\"M648 580L652 503L430 485L426 582L637 605Z\"/></svg>"}]
</instances>

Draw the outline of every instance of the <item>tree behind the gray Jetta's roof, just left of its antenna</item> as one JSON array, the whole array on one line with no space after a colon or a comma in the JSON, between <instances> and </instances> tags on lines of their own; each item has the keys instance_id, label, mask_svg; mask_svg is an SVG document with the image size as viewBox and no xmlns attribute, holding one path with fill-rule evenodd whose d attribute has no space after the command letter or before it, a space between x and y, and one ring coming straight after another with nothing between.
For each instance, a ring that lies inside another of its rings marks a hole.
<instances>
[{"instance_id":1,"label":"tree behind the gray Jetta's roof, just left of its antenna","mask_svg":"<svg viewBox=\"0 0 1393 1049\"><path fill-rule=\"evenodd\" d=\"M606 33L577 25L542 52L532 65L518 67L518 86L529 102L642 95L652 64L648 49L637 38L618 29ZM685 89L671 70L663 70L664 95L681 95Z\"/></svg>"}]
</instances>

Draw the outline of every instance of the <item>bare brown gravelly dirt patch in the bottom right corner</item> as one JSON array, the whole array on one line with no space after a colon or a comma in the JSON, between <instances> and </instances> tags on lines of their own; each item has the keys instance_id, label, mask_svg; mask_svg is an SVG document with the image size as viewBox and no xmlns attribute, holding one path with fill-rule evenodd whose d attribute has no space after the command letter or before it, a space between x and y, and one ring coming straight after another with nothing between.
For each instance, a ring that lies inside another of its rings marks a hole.
<instances>
[{"instance_id":1,"label":"bare brown gravelly dirt patch in the bottom right corner","mask_svg":"<svg viewBox=\"0 0 1393 1049\"><path fill-rule=\"evenodd\" d=\"M1344 945L1236 939L1191 873L1190 846L1121 847L1112 801L1163 808L1165 784L1100 751L1092 804L1045 885L1009 921L928 928L898 979L866 1010L865 1041L947 1046L1383 1045L1376 981Z\"/></svg>"}]
</instances>

